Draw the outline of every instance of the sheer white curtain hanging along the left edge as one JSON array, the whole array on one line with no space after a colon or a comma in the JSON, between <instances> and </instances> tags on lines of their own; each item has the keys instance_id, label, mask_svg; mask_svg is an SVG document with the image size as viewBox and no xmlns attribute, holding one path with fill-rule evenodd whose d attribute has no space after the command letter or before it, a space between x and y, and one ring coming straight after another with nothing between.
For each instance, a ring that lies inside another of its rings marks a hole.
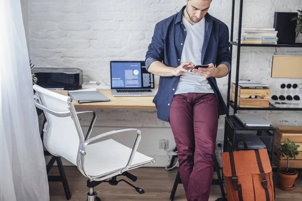
<instances>
[{"instance_id":1,"label":"sheer white curtain hanging along the left edge","mask_svg":"<svg viewBox=\"0 0 302 201\"><path fill-rule=\"evenodd\" d=\"M0 200L49 200L20 0L0 1Z\"/></svg>"}]
</instances>

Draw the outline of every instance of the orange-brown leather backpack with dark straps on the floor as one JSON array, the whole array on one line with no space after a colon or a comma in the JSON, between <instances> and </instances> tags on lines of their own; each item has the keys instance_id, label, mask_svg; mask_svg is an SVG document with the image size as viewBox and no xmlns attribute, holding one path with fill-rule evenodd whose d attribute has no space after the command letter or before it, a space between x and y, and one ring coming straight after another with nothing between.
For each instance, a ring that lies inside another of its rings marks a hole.
<instances>
[{"instance_id":1,"label":"orange-brown leather backpack with dark straps on the floor","mask_svg":"<svg viewBox=\"0 0 302 201\"><path fill-rule=\"evenodd\" d=\"M228 201L273 201L273 173L267 149L222 152ZM238 146L237 146L238 150Z\"/></svg>"}]
</instances>

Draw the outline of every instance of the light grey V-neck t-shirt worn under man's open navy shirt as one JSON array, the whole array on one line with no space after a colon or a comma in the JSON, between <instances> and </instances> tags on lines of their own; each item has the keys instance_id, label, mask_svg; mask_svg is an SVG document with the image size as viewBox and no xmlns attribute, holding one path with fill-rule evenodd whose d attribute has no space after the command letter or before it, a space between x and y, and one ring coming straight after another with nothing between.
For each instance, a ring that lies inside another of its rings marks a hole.
<instances>
[{"instance_id":1,"label":"light grey V-neck t-shirt worn under man's open navy shirt","mask_svg":"<svg viewBox=\"0 0 302 201\"><path fill-rule=\"evenodd\" d=\"M194 25L191 25L184 16L182 19L187 36L184 42L180 62L191 61L195 65L201 65L201 50L205 34L205 18ZM189 70L180 75L175 94L179 93L214 93L214 91L206 78Z\"/></svg>"}]
</instances>

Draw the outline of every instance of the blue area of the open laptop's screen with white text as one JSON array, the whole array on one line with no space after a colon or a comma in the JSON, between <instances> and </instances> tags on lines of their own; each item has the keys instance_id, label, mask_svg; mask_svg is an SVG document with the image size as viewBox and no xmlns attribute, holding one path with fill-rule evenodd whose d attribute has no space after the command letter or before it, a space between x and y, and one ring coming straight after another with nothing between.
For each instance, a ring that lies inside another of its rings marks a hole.
<instances>
[{"instance_id":1,"label":"blue area of the open laptop's screen with white text","mask_svg":"<svg viewBox=\"0 0 302 201\"><path fill-rule=\"evenodd\" d=\"M140 62L112 62L111 84L112 88L140 88Z\"/></svg>"}]
</instances>

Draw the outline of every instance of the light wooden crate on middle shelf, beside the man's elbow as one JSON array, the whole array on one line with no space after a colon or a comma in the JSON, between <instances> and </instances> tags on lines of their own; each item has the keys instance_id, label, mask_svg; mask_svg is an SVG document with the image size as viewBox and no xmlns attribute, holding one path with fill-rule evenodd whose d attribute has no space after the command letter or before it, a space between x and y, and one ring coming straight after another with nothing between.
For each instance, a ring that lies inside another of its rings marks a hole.
<instances>
[{"instance_id":1,"label":"light wooden crate on middle shelf, beside the man's elbow","mask_svg":"<svg viewBox=\"0 0 302 201\"><path fill-rule=\"evenodd\" d=\"M235 102L235 83L232 83L231 100ZM249 98L251 95L259 95L261 98ZM248 108L268 108L269 107L269 88L249 88L239 87L237 105Z\"/></svg>"}]
</instances>

